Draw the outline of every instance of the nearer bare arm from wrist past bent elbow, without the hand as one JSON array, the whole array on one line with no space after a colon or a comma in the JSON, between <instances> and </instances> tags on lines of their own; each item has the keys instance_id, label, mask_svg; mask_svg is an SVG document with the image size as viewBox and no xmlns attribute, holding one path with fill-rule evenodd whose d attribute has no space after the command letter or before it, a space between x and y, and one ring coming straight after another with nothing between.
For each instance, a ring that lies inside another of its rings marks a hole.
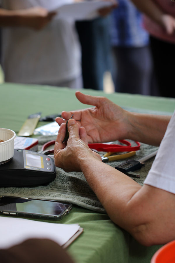
<instances>
[{"instance_id":1,"label":"nearer bare arm from wrist past bent elbow, without the hand","mask_svg":"<svg viewBox=\"0 0 175 263\"><path fill-rule=\"evenodd\" d=\"M149 246L174 239L173 194L152 186L141 187L95 159L82 159L81 169L111 220L137 241Z\"/></svg>"}]
</instances>

